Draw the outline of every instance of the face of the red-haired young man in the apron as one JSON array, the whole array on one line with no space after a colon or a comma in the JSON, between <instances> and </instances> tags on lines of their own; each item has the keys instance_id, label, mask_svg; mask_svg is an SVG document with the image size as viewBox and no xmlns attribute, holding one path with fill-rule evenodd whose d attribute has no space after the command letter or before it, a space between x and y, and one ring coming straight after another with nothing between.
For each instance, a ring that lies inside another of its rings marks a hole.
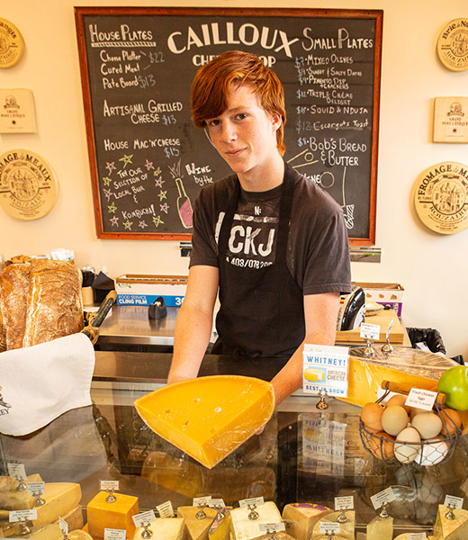
<instances>
[{"instance_id":1,"label":"face of the red-haired young man in the apron","mask_svg":"<svg viewBox=\"0 0 468 540\"><path fill-rule=\"evenodd\" d=\"M220 116L206 121L211 141L238 175L261 174L278 156L281 116L267 114L247 85L231 87L228 103Z\"/></svg>"}]
</instances>

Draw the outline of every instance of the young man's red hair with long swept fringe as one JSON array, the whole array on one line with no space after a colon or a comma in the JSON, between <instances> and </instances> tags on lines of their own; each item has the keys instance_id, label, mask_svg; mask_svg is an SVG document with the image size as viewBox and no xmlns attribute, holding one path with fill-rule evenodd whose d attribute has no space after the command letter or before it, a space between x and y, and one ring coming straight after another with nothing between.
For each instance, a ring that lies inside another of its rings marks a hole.
<instances>
[{"instance_id":1,"label":"young man's red hair with long swept fringe","mask_svg":"<svg viewBox=\"0 0 468 540\"><path fill-rule=\"evenodd\" d=\"M277 113L282 117L283 121L276 130L276 147L283 156L284 88L273 69L266 67L255 54L228 50L200 67L193 78L190 96L194 125L204 128L207 119L216 118L228 108L231 85L248 85L266 113Z\"/></svg>"}]
</instances>

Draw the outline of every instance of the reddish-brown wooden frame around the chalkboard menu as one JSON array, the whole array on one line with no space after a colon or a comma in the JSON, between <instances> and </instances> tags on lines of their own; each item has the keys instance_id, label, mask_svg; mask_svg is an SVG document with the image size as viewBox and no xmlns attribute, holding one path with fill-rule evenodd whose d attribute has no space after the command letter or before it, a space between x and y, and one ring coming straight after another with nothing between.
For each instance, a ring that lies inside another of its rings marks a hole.
<instances>
[{"instance_id":1,"label":"reddish-brown wooden frame around the chalkboard menu","mask_svg":"<svg viewBox=\"0 0 468 540\"><path fill-rule=\"evenodd\" d=\"M303 18L305 20L325 20L325 19L346 19L349 21L372 21L374 22L374 58L373 58L373 74L372 74L372 108L369 118L371 126L367 129L370 133L370 148L365 151L365 157L369 159L368 175L363 180L365 189L365 205L366 205L366 230L364 234L357 236L349 235L350 244L372 246L375 242L375 220L376 220L376 193L377 193L377 161L378 161L378 134L379 134L379 110L380 110L380 79L381 79L381 61L382 61L382 32L383 32L383 11L382 10L342 10L342 9L284 9L284 8L187 8L187 7L75 7L76 18L76 33L78 43L78 56L80 61L81 83L85 110L85 129L86 141L89 154L93 202L94 202L94 220L96 234L98 238L109 239L168 239L168 240L187 240L191 238L190 232L180 231L112 231L106 230L103 225L103 201L102 188L99 184L98 173L98 154L96 133L94 130L94 113L93 113L93 88L90 83L90 73L93 65L90 61L88 50L86 49L85 41L85 17L88 16L148 16L148 17L177 17L190 16L202 19L207 16L229 16L229 17L262 17L266 20L271 18L271 22L277 18L286 20L287 18ZM233 49L233 47L231 47ZM245 48L244 48L245 49ZM190 81L189 81L190 83ZM187 99L190 93L190 85L187 85ZM286 103L287 104L287 103ZM288 105L287 105L288 106ZM348 107L349 108L349 107ZM339 107L338 107L339 109ZM288 121L289 121L288 113ZM286 124L286 127L287 124ZM357 128L356 128L357 129ZM196 128L193 127L193 130ZM331 140L333 140L331 138ZM345 139L346 140L346 139ZM322 143L323 144L323 143ZM304 150L305 151L305 150ZM364 151L363 151L364 152ZM309 152L311 154L311 152ZM307 156L307 154L306 154ZM297 156L296 156L297 157ZM294 159L293 157L292 159ZM341 157L344 159L344 157ZM147 160L148 163L148 160ZM315 163L315 161L313 162ZM347 167L344 171L346 173ZM218 179L220 176L214 178ZM345 209L345 174L343 175L343 208ZM320 176L321 179L321 176ZM360 179L361 181L361 179ZM358 188L357 198L359 199L360 187ZM356 191L356 190L355 190ZM179 191L180 193L180 191ZM367 200L368 199L368 200ZM353 211L354 211L354 204ZM346 212L345 212L346 213ZM179 215L182 219L182 215ZM348 216L349 217L349 216ZM353 220L353 216L351 216ZM140 221L141 223L141 221Z\"/></svg>"}]
</instances>

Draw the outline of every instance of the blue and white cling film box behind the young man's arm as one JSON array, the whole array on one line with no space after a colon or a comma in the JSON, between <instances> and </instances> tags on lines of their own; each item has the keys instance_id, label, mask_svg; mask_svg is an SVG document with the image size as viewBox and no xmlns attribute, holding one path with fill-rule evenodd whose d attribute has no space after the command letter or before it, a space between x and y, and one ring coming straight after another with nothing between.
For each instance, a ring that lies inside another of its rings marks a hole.
<instances>
[{"instance_id":1,"label":"blue and white cling film box behind the young man's arm","mask_svg":"<svg viewBox=\"0 0 468 540\"><path fill-rule=\"evenodd\" d=\"M187 289L185 275L125 274L115 280L117 304L148 306L162 296L167 307L179 307Z\"/></svg>"}]
</instances>

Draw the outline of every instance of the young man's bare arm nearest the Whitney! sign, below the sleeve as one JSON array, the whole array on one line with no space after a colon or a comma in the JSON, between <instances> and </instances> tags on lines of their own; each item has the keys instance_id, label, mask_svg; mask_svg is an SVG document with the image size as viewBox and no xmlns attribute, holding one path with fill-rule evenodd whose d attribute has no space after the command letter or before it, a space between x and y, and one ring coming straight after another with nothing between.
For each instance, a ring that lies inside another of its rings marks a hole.
<instances>
[{"instance_id":1,"label":"young man's bare arm nearest the Whitney! sign, below the sleeve","mask_svg":"<svg viewBox=\"0 0 468 540\"><path fill-rule=\"evenodd\" d=\"M284 368L272 379L275 404L279 405L302 387L302 350L304 343L335 345L339 293L308 294L304 296L306 337Z\"/></svg>"}]
</instances>

